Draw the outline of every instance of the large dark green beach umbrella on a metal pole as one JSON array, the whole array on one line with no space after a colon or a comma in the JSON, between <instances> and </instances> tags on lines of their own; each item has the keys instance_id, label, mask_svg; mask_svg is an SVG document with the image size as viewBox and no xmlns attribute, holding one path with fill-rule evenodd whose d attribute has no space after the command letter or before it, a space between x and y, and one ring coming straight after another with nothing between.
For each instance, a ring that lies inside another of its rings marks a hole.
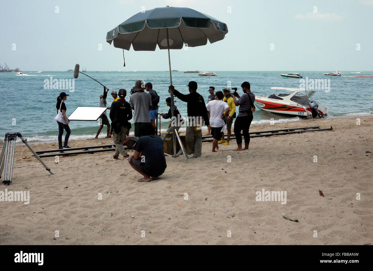
<instances>
[{"instance_id":1,"label":"large dark green beach umbrella on a metal pole","mask_svg":"<svg viewBox=\"0 0 373 271\"><path fill-rule=\"evenodd\" d=\"M123 50L129 50L131 44L135 51L154 51L157 45L159 49L167 49L172 85L170 49L182 49L184 43L188 47L206 45L207 40L214 43L224 39L227 33L227 25L213 17L187 7L167 6L135 14L110 30L106 41ZM172 91L170 95L174 116Z\"/></svg>"}]
</instances>

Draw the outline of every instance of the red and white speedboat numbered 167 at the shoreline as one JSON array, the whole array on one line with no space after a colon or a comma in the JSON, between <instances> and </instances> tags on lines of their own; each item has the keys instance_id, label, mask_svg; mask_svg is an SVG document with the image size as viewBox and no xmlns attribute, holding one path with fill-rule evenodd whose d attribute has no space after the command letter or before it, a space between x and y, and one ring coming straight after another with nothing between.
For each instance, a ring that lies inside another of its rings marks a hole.
<instances>
[{"instance_id":1,"label":"red and white speedboat numbered 167 at the shoreline","mask_svg":"<svg viewBox=\"0 0 373 271\"><path fill-rule=\"evenodd\" d=\"M320 118L326 117L328 110L319 102L311 99L316 91L291 87L271 87L281 90L279 94L256 96L254 104L261 110L288 117Z\"/></svg>"}]
</instances>

